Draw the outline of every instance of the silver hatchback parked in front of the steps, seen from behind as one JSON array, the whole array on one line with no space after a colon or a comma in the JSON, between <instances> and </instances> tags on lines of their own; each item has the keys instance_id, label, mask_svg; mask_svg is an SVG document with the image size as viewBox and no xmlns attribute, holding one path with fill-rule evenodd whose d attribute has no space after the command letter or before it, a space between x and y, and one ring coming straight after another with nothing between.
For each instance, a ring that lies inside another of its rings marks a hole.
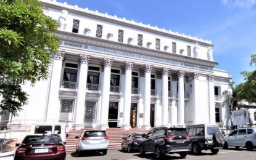
<instances>
[{"instance_id":1,"label":"silver hatchback parked in front of the steps, seen from behind","mask_svg":"<svg viewBox=\"0 0 256 160\"><path fill-rule=\"evenodd\" d=\"M80 136L76 136L76 155L80 156L83 151L98 151L107 154L109 148L109 137L105 130L84 130Z\"/></svg>"}]
</instances>

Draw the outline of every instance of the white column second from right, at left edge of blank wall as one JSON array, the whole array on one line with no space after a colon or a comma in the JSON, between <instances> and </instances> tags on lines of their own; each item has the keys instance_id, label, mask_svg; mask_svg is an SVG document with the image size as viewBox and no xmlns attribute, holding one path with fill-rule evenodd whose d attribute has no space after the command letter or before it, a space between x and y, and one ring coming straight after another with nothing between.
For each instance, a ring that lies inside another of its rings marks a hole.
<instances>
[{"instance_id":1,"label":"white column second from right, at left edge of blank wall","mask_svg":"<svg viewBox=\"0 0 256 160\"><path fill-rule=\"evenodd\" d=\"M198 124L200 122L201 115L200 115L200 111L199 110L199 102L200 102L200 89L198 87L200 87L199 84L199 74L200 73L193 73L193 81L192 81L192 103L194 106L193 110L192 110L192 115L193 116L193 124Z\"/></svg>"}]
</instances>

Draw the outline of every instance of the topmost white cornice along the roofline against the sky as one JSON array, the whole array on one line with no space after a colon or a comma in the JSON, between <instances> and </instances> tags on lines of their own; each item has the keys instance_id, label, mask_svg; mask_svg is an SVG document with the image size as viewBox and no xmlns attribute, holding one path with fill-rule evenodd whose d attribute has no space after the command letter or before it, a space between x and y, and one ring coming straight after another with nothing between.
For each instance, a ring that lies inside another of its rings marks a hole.
<instances>
[{"instance_id":1,"label":"topmost white cornice along the roofline against the sky","mask_svg":"<svg viewBox=\"0 0 256 160\"><path fill-rule=\"evenodd\" d=\"M95 18L97 20L116 23L118 25L123 25L131 28L136 28L139 30L149 31L151 33L161 34L171 38L181 39L181 40L189 41L193 43L198 42L199 44L205 45L205 46L213 46L212 41L207 41L202 38L197 38L196 36L192 37L184 33L181 34L171 30L165 30L165 28L158 28L157 26L151 26L149 24L146 25L146 24L143 24L142 22L134 22L134 20L126 20L126 18L119 18L116 15L112 16L112 15L108 15L107 13L102 14L97 10L93 11L93 10L89 10L88 8L84 9L84 8L78 7L77 5L75 6L69 5L67 4L67 2L62 3L62 2L57 2L56 0L39 0L39 1L43 2L44 6L46 7L51 7L54 9L65 9L65 10L68 10L68 12L72 12L78 15L84 15L86 17Z\"/></svg>"}]
</instances>

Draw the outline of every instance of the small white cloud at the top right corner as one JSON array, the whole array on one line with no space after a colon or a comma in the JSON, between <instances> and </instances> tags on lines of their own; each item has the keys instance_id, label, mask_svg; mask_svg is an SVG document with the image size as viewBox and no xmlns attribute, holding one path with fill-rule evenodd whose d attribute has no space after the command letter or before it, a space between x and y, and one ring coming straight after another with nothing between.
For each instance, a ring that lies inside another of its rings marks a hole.
<instances>
[{"instance_id":1,"label":"small white cloud at the top right corner","mask_svg":"<svg viewBox=\"0 0 256 160\"><path fill-rule=\"evenodd\" d=\"M256 4L256 0L221 0L221 2L228 6L240 7L245 9L251 9Z\"/></svg>"}]
</instances>

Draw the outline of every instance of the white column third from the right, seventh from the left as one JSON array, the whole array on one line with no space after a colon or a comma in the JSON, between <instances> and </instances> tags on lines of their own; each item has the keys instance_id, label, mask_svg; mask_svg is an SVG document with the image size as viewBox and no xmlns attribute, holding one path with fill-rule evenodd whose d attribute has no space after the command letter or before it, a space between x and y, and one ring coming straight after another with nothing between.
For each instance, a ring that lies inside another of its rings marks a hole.
<instances>
[{"instance_id":1,"label":"white column third from the right, seventh from the left","mask_svg":"<svg viewBox=\"0 0 256 160\"><path fill-rule=\"evenodd\" d=\"M185 71L179 70L178 126L185 126L184 74Z\"/></svg>"}]
</instances>

